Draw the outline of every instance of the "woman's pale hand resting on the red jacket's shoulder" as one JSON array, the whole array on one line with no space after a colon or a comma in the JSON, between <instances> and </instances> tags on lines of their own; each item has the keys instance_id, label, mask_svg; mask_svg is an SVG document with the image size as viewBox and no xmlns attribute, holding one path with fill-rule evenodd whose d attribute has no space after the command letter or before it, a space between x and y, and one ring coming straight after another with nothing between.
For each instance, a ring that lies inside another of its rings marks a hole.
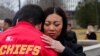
<instances>
[{"instance_id":1,"label":"woman's pale hand resting on the red jacket's shoulder","mask_svg":"<svg viewBox=\"0 0 100 56\"><path fill-rule=\"evenodd\" d=\"M49 44L49 46L45 46L46 48L52 48L53 50L62 53L65 47L60 43L60 41L54 40L49 36L43 35L41 36L42 41Z\"/></svg>"}]
</instances>

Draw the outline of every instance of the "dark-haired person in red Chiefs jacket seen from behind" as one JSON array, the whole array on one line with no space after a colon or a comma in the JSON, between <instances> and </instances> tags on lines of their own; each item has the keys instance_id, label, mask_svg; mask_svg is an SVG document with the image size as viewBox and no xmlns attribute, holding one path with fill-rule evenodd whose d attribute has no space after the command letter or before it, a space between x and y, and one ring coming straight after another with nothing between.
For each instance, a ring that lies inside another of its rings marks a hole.
<instances>
[{"instance_id":1,"label":"dark-haired person in red Chiefs jacket seen from behind","mask_svg":"<svg viewBox=\"0 0 100 56\"><path fill-rule=\"evenodd\" d=\"M37 28L43 18L43 11L37 5L22 7L18 23L0 34L0 56L57 56L45 48L43 35Z\"/></svg>"}]
</instances>

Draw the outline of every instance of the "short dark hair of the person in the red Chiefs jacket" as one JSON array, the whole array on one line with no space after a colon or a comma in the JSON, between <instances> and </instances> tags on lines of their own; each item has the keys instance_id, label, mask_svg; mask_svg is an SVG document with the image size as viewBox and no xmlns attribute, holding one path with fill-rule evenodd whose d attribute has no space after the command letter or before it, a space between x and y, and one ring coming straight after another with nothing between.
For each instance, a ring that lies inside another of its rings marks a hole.
<instances>
[{"instance_id":1,"label":"short dark hair of the person in the red Chiefs jacket","mask_svg":"<svg viewBox=\"0 0 100 56\"><path fill-rule=\"evenodd\" d=\"M18 14L19 21L25 20L34 25L40 24L43 18L42 8L33 4L25 5L19 10Z\"/></svg>"}]
</instances>

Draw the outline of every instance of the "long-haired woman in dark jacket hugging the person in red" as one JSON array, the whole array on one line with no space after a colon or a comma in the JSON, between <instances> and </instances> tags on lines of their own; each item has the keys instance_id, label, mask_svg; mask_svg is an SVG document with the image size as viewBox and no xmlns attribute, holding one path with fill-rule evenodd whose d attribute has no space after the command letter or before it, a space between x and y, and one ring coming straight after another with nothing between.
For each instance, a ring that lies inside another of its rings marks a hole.
<instances>
[{"instance_id":1,"label":"long-haired woman in dark jacket hugging the person in red","mask_svg":"<svg viewBox=\"0 0 100 56\"><path fill-rule=\"evenodd\" d=\"M44 11L44 19L41 31L43 42L49 44L46 48L52 48L59 56L85 56L83 47L73 43L73 38L67 37L67 17L59 7L50 7Z\"/></svg>"}]
</instances>

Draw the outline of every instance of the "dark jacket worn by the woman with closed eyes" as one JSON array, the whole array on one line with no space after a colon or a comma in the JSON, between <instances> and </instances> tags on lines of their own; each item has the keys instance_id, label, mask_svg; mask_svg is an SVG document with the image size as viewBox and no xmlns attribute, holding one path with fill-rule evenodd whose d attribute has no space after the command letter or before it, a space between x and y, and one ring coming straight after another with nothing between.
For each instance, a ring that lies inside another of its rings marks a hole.
<instances>
[{"instance_id":1,"label":"dark jacket worn by the woman with closed eyes","mask_svg":"<svg viewBox=\"0 0 100 56\"><path fill-rule=\"evenodd\" d=\"M60 41L65 46L65 50L59 56L86 56L83 47L75 43L74 39L67 41L63 38Z\"/></svg>"}]
</instances>

